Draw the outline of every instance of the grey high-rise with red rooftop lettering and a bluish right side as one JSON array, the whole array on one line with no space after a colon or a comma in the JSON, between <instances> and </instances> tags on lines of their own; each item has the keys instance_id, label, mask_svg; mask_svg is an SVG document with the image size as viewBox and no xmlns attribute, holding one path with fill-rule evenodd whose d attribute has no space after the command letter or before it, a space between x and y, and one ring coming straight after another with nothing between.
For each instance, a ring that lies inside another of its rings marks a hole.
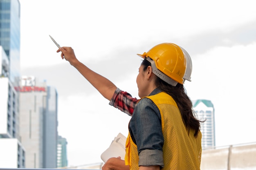
<instances>
[{"instance_id":1,"label":"grey high-rise with red rooftop lettering and a bluish right side","mask_svg":"<svg viewBox=\"0 0 256 170\"><path fill-rule=\"evenodd\" d=\"M26 168L57 167L57 92L33 76L22 76L20 137L26 149Z\"/></svg>"}]
</instances>

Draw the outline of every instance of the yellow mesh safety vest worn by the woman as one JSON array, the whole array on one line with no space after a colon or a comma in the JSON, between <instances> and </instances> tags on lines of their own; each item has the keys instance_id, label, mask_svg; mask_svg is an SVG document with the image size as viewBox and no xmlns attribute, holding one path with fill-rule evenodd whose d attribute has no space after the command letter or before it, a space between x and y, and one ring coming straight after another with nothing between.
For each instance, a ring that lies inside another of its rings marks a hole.
<instances>
[{"instance_id":1,"label":"yellow mesh safety vest worn by the woman","mask_svg":"<svg viewBox=\"0 0 256 170\"><path fill-rule=\"evenodd\" d=\"M194 137L194 130L186 129L182 121L180 110L174 99L164 93L148 96L161 113L162 132L164 136L162 170L200 170L201 161L201 132ZM136 144L130 137L126 140L126 165L131 170L139 170L139 155Z\"/></svg>"}]
</instances>

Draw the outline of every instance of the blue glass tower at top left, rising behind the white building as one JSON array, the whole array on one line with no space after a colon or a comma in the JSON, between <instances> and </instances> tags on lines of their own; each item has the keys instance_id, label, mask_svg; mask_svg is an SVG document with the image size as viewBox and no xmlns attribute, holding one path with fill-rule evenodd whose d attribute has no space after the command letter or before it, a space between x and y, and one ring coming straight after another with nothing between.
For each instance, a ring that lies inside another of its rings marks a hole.
<instances>
[{"instance_id":1,"label":"blue glass tower at top left, rising behind the white building","mask_svg":"<svg viewBox=\"0 0 256 170\"><path fill-rule=\"evenodd\" d=\"M9 79L17 86L20 79L19 0L0 0L0 45L9 58Z\"/></svg>"}]
</instances>

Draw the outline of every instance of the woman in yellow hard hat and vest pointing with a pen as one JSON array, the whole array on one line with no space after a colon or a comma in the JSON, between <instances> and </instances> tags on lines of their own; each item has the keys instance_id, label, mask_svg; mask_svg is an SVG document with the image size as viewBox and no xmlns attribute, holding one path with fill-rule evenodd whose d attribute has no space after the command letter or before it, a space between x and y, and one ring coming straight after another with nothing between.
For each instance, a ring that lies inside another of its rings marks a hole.
<instances>
[{"instance_id":1,"label":"woman in yellow hard hat and vest pointing with a pen","mask_svg":"<svg viewBox=\"0 0 256 170\"><path fill-rule=\"evenodd\" d=\"M144 58L136 79L139 101L79 62L72 48L60 51L112 106L132 114L125 160L110 158L103 170L200 169L200 121L183 86L184 49L163 43L139 55Z\"/></svg>"}]
</instances>

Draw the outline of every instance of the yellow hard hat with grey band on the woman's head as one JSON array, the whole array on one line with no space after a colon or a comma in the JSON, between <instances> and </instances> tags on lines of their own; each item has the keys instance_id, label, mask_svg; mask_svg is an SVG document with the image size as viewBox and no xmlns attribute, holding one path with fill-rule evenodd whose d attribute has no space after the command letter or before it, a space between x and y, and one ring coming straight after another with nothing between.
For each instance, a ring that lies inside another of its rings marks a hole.
<instances>
[{"instance_id":1,"label":"yellow hard hat with grey band on the woman's head","mask_svg":"<svg viewBox=\"0 0 256 170\"><path fill-rule=\"evenodd\" d=\"M162 43L148 52L137 54L151 63L153 73L168 84L183 84L186 71L186 57L180 46L173 43ZM171 79L170 79L171 78Z\"/></svg>"}]
</instances>

